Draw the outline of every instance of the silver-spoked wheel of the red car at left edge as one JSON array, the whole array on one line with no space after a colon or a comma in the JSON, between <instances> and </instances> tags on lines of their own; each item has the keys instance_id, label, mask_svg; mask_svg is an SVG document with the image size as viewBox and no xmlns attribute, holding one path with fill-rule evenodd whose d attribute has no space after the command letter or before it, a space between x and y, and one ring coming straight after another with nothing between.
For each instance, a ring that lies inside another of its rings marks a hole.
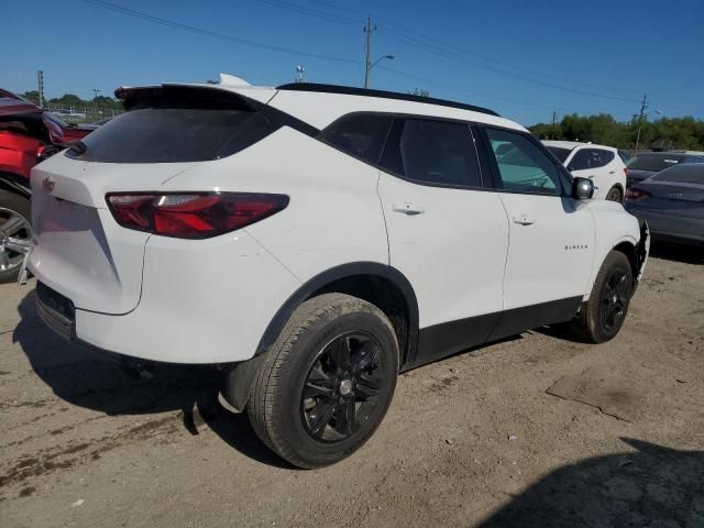
<instances>
[{"instance_id":1,"label":"silver-spoked wheel of the red car at left edge","mask_svg":"<svg viewBox=\"0 0 704 528\"><path fill-rule=\"evenodd\" d=\"M11 218L21 218L26 227L19 231L6 232L3 227ZM11 283L16 280L24 254L15 249L9 248L10 235L12 239L32 240L32 211L30 200L23 196L0 190L0 283Z\"/></svg>"}]
</instances>

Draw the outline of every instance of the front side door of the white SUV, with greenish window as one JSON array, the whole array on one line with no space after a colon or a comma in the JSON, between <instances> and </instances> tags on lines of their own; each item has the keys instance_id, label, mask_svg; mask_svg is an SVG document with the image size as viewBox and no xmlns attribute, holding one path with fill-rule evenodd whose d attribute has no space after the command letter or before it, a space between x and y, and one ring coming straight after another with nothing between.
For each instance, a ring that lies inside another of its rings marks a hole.
<instances>
[{"instance_id":1,"label":"front side door of the white SUV, with greenish window","mask_svg":"<svg viewBox=\"0 0 704 528\"><path fill-rule=\"evenodd\" d=\"M570 319L588 289L594 258L588 202L566 196L566 177L528 134L481 131L510 226L505 314L493 338Z\"/></svg>"}]
</instances>

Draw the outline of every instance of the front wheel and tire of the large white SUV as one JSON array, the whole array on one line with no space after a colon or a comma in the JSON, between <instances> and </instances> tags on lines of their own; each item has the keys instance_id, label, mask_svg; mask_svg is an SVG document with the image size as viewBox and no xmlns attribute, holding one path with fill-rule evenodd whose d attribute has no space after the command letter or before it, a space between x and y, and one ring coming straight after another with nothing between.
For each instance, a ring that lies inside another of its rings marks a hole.
<instances>
[{"instance_id":1,"label":"front wheel and tire of the large white SUV","mask_svg":"<svg viewBox=\"0 0 704 528\"><path fill-rule=\"evenodd\" d=\"M588 343L613 339L626 320L634 288L630 262L619 251L612 251L602 264L590 300L584 302L568 330Z\"/></svg>"}]
</instances>

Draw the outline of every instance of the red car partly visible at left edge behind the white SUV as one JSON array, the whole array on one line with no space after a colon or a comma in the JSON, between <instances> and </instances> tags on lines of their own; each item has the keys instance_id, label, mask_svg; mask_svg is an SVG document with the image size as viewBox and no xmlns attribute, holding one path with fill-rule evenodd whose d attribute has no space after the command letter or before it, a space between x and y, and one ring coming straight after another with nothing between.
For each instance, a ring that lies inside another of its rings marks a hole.
<instances>
[{"instance_id":1,"label":"red car partly visible at left edge behind the white SUV","mask_svg":"<svg viewBox=\"0 0 704 528\"><path fill-rule=\"evenodd\" d=\"M0 88L0 283L16 278L32 244L32 167L90 131Z\"/></svg>"}]
</instances>

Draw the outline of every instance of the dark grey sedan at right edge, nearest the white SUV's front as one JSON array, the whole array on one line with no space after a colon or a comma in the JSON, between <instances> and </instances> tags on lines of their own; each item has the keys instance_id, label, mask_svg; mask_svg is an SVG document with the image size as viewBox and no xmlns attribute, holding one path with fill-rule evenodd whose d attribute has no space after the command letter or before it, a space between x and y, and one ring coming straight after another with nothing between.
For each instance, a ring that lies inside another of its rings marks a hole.
<instances>
[{"instance_id":1,"label":"dark grey sedan at right edge, nearest the white SUV's front","mask_svg":"<svg viewBox=\"0 0 704 528\"><path fill-rule=\"evenodd\" d=\"M704 163L675 165L635 184L625 207L648 222L653 240L704 245Z\"/></svg>"}]
</instances>

